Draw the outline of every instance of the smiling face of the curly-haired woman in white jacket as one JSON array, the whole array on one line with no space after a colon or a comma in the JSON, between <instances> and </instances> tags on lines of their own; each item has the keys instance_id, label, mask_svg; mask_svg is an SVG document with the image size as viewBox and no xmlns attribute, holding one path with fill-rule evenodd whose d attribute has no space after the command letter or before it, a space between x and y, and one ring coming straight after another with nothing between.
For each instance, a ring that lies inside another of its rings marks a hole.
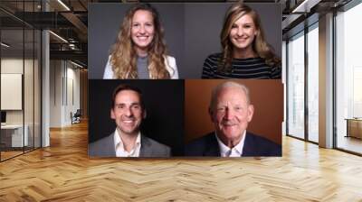
<instances>
[{"instance_id":1,"label":"smiling face of the curly-haired woman in white jacket","mask_svg":"<svg viewBox=\"0 0 362 202\"><path fill-rule=\"evenodd\" d=\"M148 46L155 34L152 14L146 10L138 10L132 17L130 35L138 54L147 54Z\"/></svg>"}]
</instances>

